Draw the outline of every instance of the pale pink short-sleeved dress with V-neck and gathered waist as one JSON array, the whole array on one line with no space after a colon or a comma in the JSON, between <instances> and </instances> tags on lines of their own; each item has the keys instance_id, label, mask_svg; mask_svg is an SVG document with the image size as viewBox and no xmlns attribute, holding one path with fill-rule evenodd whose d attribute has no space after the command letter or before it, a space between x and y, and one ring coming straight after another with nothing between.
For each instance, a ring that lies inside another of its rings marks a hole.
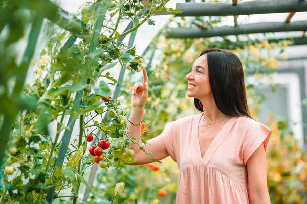
<instances>
[{"instance_id":1,"label":"pale pink short-sleeved dress with V-neck and gathered waist","mask_svg":"<svg viewBox=\"0 0 307 204\"><path fill-rule=\"evenodd\" d=\"M250 203L246 162L272 130L248 117L231 117L201 157L198 124L203 113L167 123L161 134L180 170L177 204Z\"/></svg>"}]
</instances>

